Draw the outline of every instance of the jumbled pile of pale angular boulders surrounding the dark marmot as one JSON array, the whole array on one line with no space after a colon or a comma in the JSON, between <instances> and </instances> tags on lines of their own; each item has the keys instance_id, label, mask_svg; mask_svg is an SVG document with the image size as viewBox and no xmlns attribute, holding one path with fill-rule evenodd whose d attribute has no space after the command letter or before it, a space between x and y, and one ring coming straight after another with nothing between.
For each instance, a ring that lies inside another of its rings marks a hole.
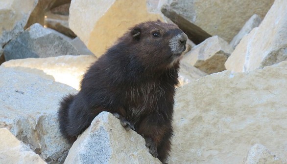
<instances>
[{"instance_id":1,"label":"jumbled pile of pale angular boulders surrounding the dark marmot","mask_svg":"<svg viewBox=\"0 0 287 164\"><path fill-rule=\"evenodd\" d=\"M102 112L70 145L60 99L127 28L176 23L169 164L287 164L287 0L0 0L0 164L159 164Z\"/></svg>"}]
</instances>

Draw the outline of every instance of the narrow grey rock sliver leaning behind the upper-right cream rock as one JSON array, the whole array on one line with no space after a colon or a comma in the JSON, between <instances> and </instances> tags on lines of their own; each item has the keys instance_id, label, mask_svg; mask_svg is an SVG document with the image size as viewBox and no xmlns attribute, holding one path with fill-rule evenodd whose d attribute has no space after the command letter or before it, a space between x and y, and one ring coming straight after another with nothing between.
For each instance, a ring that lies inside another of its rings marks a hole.
<instances>
[{"instance_id":1,"label":"narrow grey rock sliver leaning behind the upper-right cream rock","mask_svg":"<svg viewBox=\"0 0 287 164\"><path fill-rule=\"evenodd\" d=\"M233 48L235 48L239 42L241 41L241 39L246 35L249 34L250 31L255 28L258 27L259 24L261 23L261 18L257 15L254 14L248 21L246 21L246 23L244 24L244 26L241 28L241 30L239 31L239 33L233 38L233 40L229 43Z\"/></svg>"}]
</instances>

